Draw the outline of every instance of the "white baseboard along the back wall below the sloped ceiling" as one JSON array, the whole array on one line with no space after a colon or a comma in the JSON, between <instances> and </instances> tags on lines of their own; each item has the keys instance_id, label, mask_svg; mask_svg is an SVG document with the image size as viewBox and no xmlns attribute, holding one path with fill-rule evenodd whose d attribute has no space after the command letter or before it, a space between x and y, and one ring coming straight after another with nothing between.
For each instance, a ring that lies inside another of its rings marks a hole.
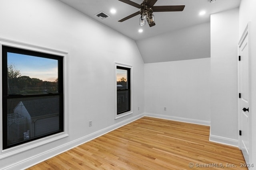
<instances>
[{"instance_id":1,"label":"white baseboard along the back wall below the sloped ceiling","mask_svg":"<svg viewBox=\"0 0 256 170\"><path fill-rule=\"evenodd\" d=\"M145 113L145 116L156 117L156 118L160 118L160 119L174 120L174 121L181 121L181 122L186 122L186 123L194 123L194 124L198 124L198 125L206 125L206 126L211 125L210 121L203 121L203 120L197 120L197 119L188 119L188 118L183 118L183 117L159 115L159 114L153 114L153 113Z\"/></svg>"}]
</instances>

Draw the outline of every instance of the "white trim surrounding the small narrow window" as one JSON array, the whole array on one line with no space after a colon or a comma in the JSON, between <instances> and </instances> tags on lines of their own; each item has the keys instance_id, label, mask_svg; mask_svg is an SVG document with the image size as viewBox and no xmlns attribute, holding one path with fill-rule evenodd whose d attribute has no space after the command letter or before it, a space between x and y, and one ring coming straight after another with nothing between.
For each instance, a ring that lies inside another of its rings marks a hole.
<instances>
[{"instance_id":1,"label":"white trim surrounding the small narrow window","mask_svg":"<svg viewBox=\"0 0 256 170\"><path fill-rule=\"evenodd\" d=\"M117 87L116 87L116 66L121 66L121 67L126 67L126 68L130 68L130 111L127 111L125 113L121 113L119 115L117 115ZM122 64L122 63L114 63L114 116L115 119L119 119L121 117L130 115L133 113L133 81L132 81L132 77L133 77L133 73L132 73L132 66L131 65L127 65L127 64Z\"/></svg>"}]
</instances>

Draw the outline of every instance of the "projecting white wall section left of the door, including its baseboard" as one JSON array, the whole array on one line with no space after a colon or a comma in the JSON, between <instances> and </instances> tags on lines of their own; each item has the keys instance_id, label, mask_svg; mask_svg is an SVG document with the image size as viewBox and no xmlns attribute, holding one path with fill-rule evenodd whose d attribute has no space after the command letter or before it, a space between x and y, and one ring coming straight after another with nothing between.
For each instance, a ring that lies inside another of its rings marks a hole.
<instances>
[{"instance_id":1,"label":"projecting white wall section left of the door, including its baseboard","mask_svg":"<svg viewBox=\"0 0 256 170\"><path fill-rule=\"evenodd\" d=\"M211 15L210 140L238 146L238 8Z\"/></svg>"}]
</instances>

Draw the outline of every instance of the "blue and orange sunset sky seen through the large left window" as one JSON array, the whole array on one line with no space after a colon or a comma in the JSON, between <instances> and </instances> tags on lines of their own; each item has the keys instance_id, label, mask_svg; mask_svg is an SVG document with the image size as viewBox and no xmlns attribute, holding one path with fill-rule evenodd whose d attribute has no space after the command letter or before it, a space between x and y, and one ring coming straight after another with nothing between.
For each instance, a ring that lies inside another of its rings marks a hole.
<instances>
[{"instance_id":1,"label":"blue and orange sunset sky seen through the large left window","mask_svg":"<svg viewBox=\"0 0 256 170\"><path fill-rule=\"evenodd\" d=\"M58 78L58 61L54 59L8 53L7 64L14 65L22 76L51 82Z\"/></svg>"}]
</instances>

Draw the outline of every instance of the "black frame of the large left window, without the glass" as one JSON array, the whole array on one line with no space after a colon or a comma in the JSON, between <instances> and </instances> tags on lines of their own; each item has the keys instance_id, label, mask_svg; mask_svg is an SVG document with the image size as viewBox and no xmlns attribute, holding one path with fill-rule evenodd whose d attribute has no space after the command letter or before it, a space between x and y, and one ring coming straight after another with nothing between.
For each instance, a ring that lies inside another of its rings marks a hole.
<instances>
[{"instance_id":1,"label":"black frame of the large left window, without the glass","mask_svg":"<svg viewBox=\"0 0 256 170\"><path fill-rule=\"evenodd\" d=\"M8 95L8 61L7 61L7 53L16 53L21 55L30 55L34 57L42 57L46 59L54 59L58 61L58 93L47 93L47 94L12 94ZM64 56L55 55L50 53L44 53L41 51L33 51L30 49L23 49L8 45L2 45L2 148L9 149L18 145L22 145L24 143L28 143L31 141L35 141L37 139L42 139L44 137L48 137L57 133L64 132L64 72L63 72L63 63ZM38 98L38 97L51 97L58 96L59 97L59 130L51 133L47 133L44 135L40 135L37 137L33 137L30 139L26 139L24 141L19 141L17 143L12 143L8 145L8 125L7 125L7 100L8 99L17 99L17 98Z\"/></svg>"}]
</instances>

